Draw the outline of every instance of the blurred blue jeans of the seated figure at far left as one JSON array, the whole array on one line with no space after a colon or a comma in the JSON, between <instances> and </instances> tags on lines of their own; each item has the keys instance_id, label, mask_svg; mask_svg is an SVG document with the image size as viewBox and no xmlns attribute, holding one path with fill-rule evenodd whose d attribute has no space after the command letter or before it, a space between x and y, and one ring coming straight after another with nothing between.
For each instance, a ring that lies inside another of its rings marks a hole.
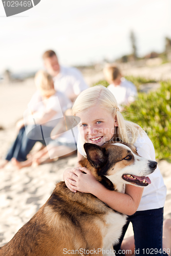
<instances>
[{"instance_id":1,"label":"blurred blue jeans of the seated figure at far left","mask_svg":"<svg viewBox=\"0 0 171 256\"><path fill-rule=\"evenodd\" d=\"M34 129L34 126L26 126L26 129L27 128L29 128L30 130L29 136L26 135L25 127L20 129L15 141L13 142L10 150L8 151L8 154L5 158L6 160L10 161L11 158L14 157L20 162L26 161L27 155L32 150L36 141L40 141L42 144L46 145L44 137L49 138L50 140L50 133L53 129L53 127L47 127L42 125L42 134L40 134L40 130ZM28 137L32 139L29 139Z\"/></svg>"}]
</instances>

